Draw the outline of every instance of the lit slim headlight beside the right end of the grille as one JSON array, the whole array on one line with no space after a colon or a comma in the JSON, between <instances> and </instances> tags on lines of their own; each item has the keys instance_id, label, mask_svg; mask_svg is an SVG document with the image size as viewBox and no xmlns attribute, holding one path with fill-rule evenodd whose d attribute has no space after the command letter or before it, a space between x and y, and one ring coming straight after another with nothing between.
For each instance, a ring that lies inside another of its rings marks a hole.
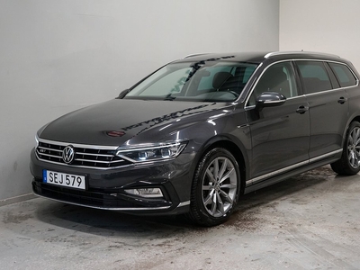
<instances>
[{"instance_id":1,"label":"lit slim headlight beside the right end of the grille","mask_svg":"<svg viewBox=\"0 0 360 270\"><path fill-rule=\"evenodd\" d=\"M186 142L183 141L147 144L136 148L118 148L116 156L134 163L165 160L179 156L185 146Z\"/></svg>"}]
</instances>

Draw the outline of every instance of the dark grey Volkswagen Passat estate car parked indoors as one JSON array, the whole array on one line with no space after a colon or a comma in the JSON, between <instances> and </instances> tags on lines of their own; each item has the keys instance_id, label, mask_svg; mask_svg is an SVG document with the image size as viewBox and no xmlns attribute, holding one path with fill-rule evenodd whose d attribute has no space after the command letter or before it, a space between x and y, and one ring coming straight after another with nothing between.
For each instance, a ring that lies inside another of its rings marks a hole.
<instances>
[{"instance_id":1,"label":"dark grey Volkswagen Passat estate car parked indoors","mask_svg":"<svg viewBox=\"0 0 360 270\"><path fill-rule=\"evenodd\" d=\"M42 127L33 192L212 226L238 197L317 166L355 175L359 75L333 55L202 54Z\"/></svg>"}]
</instances>

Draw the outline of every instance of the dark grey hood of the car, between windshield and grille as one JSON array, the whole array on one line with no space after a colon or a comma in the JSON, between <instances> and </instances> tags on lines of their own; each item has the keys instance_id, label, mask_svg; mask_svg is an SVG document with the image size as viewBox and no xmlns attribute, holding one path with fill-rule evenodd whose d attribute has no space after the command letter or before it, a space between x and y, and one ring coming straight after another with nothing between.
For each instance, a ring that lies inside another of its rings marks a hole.
<instances>
[{"instance_id":1,"label":"dark grey hood of the car, between windshield and grille","mask_svg":"<svg viewBox=\"0 0 360 270\"><path fill-rule=\"evenodd\" d=\"M67 113L51 121L38 132L38 136L40 139L68 143L121 146L139 135L146 137L147 134L143 133L148 132L152 137L157 134L157 138L148 138L147 142L156 142L170 131L162 132L165 128L161 127L172 123L171 130L180 129L181 126L193 124L193 116L220 107L223 104L114 99Z\"/></svg>"}]
</instances>

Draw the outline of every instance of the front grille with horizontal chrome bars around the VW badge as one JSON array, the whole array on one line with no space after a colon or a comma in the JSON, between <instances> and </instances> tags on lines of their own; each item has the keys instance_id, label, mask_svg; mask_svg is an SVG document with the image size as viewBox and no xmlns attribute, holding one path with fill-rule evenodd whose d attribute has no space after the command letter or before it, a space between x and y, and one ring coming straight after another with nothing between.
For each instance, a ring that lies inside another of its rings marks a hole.
<instances>
[{"instance_id":1,"label":"front grille with horizontal chrome bars around the VW badge","mask_svg":"<svg viewBox=\"0 0 360 270\"><path fill-rule=\"evenodd\" d=\"M71 144L68 144L71 145ZM66 143L41 141L39 139L36 148L36 156L42 161L57 164L66 164L63 159L63 150L67 147ZM130 161L115 156L116 150L113 148L91 147L72 145L74 148L74 160L70 166L83 166L92 168L114 168L130 165Z\"/></svg>"}]
</instances>

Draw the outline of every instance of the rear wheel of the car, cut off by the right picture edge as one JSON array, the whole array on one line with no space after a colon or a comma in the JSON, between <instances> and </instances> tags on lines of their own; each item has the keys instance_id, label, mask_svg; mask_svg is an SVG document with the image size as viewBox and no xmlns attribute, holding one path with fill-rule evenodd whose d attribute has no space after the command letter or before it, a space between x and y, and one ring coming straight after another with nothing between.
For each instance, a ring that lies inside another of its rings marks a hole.
<instances>
[{"instance_id":1,"label":"rear wheel of the car, cut off by the right picture edge","mask_svg":"<svg viewBox=\"0 0 360 270\"><path fill-rule=\"evenodd\" d=\"M348 130L341 158L331 164L338 175L356 175L360 171L360 123L353 121Z\"/></svg>"}]
</instances>

